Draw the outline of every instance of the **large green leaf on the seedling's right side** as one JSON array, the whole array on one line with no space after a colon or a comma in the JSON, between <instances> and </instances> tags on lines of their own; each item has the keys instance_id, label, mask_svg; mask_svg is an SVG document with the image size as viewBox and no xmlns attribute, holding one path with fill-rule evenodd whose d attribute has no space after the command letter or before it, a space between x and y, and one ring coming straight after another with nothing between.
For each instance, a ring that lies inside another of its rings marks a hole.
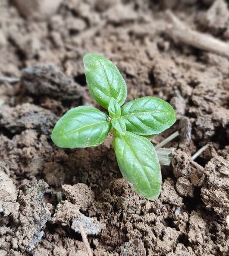
<instances>
[{"instance_id":1,"label":"large green leaf on the seedling's right side","mask_svg":"<svg viewBox=\"0 0 229 256\"><path fill-rule=\"evenodd\" d=\"M159 134L176 122L176 113L168 102L144 97L132 100L121 108L128 131L138 135Z\"/></svg>"}]
</instances>

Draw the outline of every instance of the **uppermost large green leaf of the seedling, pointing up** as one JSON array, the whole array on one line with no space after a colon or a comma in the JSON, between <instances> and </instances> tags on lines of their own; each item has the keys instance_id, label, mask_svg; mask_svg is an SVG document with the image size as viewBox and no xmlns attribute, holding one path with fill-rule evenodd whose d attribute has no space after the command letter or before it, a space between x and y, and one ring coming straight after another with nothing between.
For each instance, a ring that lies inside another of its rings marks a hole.
<instances>
[{"instance_id":1,"label":"uppermost large green leaf of the seedling, pointing up","mask_svg":"<svg viewBox=\"0 0 229 256\"><path fill-rule=\"evenodd\" d=\"M105 109L108 109L111 98L122 106L127 88L116 65L103 56L92 53L86 54L83 62L91 96Z\"/></svg>"}]
</instances>

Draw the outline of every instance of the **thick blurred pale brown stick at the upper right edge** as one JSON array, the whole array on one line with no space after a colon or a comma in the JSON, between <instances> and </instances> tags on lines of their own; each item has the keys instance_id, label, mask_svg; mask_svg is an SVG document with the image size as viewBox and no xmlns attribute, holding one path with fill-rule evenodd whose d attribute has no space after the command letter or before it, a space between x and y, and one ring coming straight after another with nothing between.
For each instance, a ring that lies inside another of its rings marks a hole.
<instances>
[{"instance_id":1,"label":"thick blurred pale brown stick at the upper right edge","mask_svg":"<svg viewBox=\"0 0 229 256\"><path fill-rule=\"evenodd\" d=\"M187 45L194 46L204 51L210 51L229 58L229 44L223 42L212 35L201 33L190 29L184 22L177 18L170 10L166 15L172 24L169 24L166 32L175 41L180 41Z\"/></svg>"}]
</instances>

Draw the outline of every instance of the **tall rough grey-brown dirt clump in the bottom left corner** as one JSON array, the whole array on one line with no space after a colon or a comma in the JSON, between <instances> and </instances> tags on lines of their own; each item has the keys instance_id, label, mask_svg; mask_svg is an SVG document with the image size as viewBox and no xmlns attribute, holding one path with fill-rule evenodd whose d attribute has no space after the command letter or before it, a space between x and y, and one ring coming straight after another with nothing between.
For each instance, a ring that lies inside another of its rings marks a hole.
<instances>
[{"instance_id":1,"label":"tall rough grey-brown dirt clump in the bottom left corner","mask_svg":"<svg viewBox=\"0 0 229 256\"><path fill-rule=\"evenodd\" d=\"M12 255L14 251L29 252L41 241L42 228L51 217L51 205L43 202L46 186L41 180L20 190L18 216L13 216L14 225L1 238L1 249Z\"/></svg>"}]
</instances>

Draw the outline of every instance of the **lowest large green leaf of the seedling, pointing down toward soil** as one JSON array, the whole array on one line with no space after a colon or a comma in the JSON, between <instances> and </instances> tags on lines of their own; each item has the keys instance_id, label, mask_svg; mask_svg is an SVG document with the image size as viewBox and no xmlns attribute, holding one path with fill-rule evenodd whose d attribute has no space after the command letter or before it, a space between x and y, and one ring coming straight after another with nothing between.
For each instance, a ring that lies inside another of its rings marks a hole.
<instances>
[{"instance_id":1,"label":"lowest large green leaf of the seedling, pointing down toward soil","mask_svg":"<svg viewBox=\"0 0 229 256\"><path fill-rule=\"evenodd\" d=\"M116 133L114 149L119 169L138 194L156 200L161 190L160 164L156 150L144 137L126 131Z\"/></svg>"}]
</instances>

